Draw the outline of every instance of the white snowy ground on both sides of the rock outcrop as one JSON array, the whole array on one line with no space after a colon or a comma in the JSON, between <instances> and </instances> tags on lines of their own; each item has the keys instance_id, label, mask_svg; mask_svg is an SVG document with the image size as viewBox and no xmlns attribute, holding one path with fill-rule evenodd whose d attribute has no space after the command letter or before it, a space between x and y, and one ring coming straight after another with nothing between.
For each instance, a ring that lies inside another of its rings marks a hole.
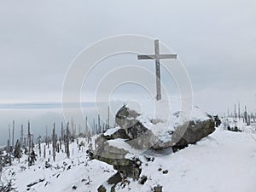
<instances>
[{"instance_id":1,"label":"white snowy ground on both sides of the rock outcrop","mask_svg":"<svg viewBox=\"0 0 256 192\"><path fill-rule=\"evenodd\" d=\"M176 154L155 154L154 161L142 155L146 183L128 179L116 191L152 191L160 184L163 191L175 192L255 192L256 191L256 135L218 129L201 142ZM3 169L3 180L13 178L17 191L96 191L116 171L97 160L88 160L87 146L79 149L71 144L71 159L57 154L56 162L50 158L45 168L43 158L35 166L27 167L24 159ZM49 149L48 149L49 150ZM47 151L49 154L49 151ZM22 168L23 166L23 168ZM26 167L26 168L24 168ZM164 174L164 171L168 171ZM28 184L43 182L27 187ZM73 187L76 189L73 189Z\"/></svg>"}]
</instances>

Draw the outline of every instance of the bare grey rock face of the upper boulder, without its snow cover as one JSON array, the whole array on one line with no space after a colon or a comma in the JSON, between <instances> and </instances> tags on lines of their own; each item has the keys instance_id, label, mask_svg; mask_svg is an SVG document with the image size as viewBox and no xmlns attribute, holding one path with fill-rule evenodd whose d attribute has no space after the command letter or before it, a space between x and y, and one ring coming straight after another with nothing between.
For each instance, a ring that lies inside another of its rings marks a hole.
<instances>
[{"instance_id":1,"label":"bare grey rock face of the upper boulder, without its snow cover","mask_svg":"<svg viewBox=\"0 0 256 192\"><path fill-rule=\"evenodd\" d=\"M174 131L166 131L165 134L171 139L162 141L137 119L139 116L140 114L136 111L123 106L115 117L116 123L121 128L119 132L126 134L125 138L128 137L126 143L129 143L132 148L161 150L172 147L173 151L177 151L189 144L195 144L215 131L214 119L190 120L183 125L177 125ZM150 119L150 122L157 124L161 120Z\"/></svg>"}]
</instances>

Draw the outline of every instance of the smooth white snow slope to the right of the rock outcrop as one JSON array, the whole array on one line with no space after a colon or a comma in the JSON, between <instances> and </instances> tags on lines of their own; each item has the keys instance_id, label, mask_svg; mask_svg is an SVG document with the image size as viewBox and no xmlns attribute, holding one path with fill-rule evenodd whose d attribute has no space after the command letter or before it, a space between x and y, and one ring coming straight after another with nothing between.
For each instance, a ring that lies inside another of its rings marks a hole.
<instances>
[{"instance_id":1,"label":"smooth white snow slope to the right of the rock outcrop","mask_svg":"<svg viewBox=\"0 0 256 192\"><path fill-rule=\"evenodd\" d=\"M151 178L147 185L158 183L164 191L255 192L256 143L248 134L218 130L177 154L160 155L142 174ZM131 188L138 186L131 183ZM137 191L148 191L148 186Z\"/></svg>"}]
</instances>

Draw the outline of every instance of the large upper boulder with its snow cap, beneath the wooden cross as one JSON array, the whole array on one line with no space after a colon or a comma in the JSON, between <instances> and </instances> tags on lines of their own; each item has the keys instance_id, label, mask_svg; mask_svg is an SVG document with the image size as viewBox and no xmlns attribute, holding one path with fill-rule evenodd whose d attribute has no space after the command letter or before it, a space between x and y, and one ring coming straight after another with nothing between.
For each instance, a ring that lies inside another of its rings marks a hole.
<instances>
[{"instance_id":1,"label":"large upper boulder with its snow cap, beneath the wooden cross","mask_svg":"<svg viewBox=\"0 0 256 192\"><path fill-rule=\"evenodd\" d=\"M133 148L184 148L215 131L213 119L198 108L191 109L189 119L180 120L184 112L173 108L174 104L171 103L172 108L166 101L156 102L156 105L163 110L150 113L152 108L141 110L124 105L116 114L116 123L126 132L129 137L126 142Z\"/></svg>"}]
</instances>

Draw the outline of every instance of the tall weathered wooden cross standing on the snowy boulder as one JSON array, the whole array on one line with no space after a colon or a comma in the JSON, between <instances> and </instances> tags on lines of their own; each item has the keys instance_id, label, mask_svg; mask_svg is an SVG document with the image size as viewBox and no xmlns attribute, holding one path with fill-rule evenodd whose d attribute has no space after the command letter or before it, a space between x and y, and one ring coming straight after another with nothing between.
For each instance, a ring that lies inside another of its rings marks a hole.
<instances>
[{"instance_id":1,"label":"tall weathered wooden cross standing on the snowy boulder","mask_svg":"<svg viewBox=\"0 0 256 192\"><path fill-rule=\"evenodd\" d=\"M154 40L154 55L137 55L138 60L155 60L155 76L156 76L156 100L161 99L160 88L160 59L177 59L177 54L160 55L159 40Z\"/></svg>"}]
</instances>

